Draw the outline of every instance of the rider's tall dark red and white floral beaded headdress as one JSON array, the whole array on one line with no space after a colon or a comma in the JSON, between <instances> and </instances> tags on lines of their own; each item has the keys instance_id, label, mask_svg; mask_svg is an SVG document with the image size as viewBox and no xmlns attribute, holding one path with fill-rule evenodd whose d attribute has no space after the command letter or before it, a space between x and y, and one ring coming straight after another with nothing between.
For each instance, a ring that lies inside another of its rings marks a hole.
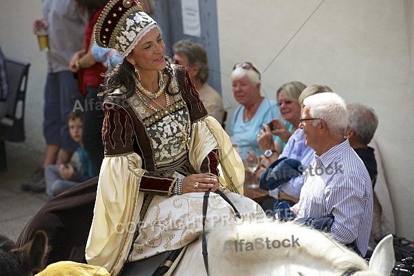
<instances>
[{"instance_id":1,"label":"rider's tall dark red and white floral beaded headdress","mask_svg":"<svg viewBox=\"0 0 414 276\"><path fill-rule=\"evenodd\" d=\"M146 14L137 0L110 0L97 21L95 41L126 57L157 22Z\"/></svg>"}]
</instances>

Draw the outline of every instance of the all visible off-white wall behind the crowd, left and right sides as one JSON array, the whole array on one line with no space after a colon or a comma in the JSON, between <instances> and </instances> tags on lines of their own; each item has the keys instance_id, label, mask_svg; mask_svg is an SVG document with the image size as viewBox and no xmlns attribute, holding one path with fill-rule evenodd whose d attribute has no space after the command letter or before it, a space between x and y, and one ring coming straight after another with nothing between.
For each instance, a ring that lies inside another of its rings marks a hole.
<instances>
[{"instance_id":1,"label":"all visible off-white wall behind the crowd, left and right sides","mask_svg":"<svg viewBox=\"0 0 414 276\"><path fill-rule=\"evenodd\" d=\"M41 1L5 2L0 9L0 45L8 57L32 63L23 145L42 150L46 57L31 32L32 21L41 17ZM375 108L380 117L376 141L391 191L397 234L412 239L413 0L323 1L305 23L321 2L217 0L225 105L229 115L237 106L228 78L233 64L253 61L264 71L263 94L267 97L274 98L282 83L298 80L327 84L346 101Z\"/></svg>"}]
</instances>

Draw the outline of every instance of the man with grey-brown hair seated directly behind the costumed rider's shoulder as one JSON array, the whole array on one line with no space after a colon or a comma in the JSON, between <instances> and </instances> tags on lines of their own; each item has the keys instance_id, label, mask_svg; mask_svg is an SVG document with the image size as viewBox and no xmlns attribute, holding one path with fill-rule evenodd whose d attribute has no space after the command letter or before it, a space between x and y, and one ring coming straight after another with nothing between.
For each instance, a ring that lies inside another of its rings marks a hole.
<instances>
[{"instance_id":1,"label":"man with grey-brown hair seated directly behind the costumed rider's shoulder","mask_svg":"<svg viewBox=\"0 0 414 276\"><path fill-rule=\"evenodd\" d=\"M201 44L189 40L178 41L172 46L172 50L174 63L186 66L208 115L215 117L221 124L224 115L223 100L207 83L210 68L206 50Z\"/></svg>"}]
</instances>

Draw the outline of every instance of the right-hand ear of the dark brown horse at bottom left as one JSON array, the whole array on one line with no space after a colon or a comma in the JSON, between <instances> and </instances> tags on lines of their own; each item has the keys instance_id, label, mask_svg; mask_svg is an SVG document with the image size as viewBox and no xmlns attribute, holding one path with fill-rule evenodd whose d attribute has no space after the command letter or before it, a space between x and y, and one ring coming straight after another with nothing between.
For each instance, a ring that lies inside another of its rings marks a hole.
<instances>
[{"instance_id":1,"label":"right-hand ear of the dark brown horse at bottom left","mask_svg":"<svg viewBox=\"0 0 414 276\"><path fill-rule=\"evenodd\" d=\"M30 273L39 273L48 253L48 236L45 231L37 230L27 244L12 250L17 261Z\"/></svg>"}]
</instances>

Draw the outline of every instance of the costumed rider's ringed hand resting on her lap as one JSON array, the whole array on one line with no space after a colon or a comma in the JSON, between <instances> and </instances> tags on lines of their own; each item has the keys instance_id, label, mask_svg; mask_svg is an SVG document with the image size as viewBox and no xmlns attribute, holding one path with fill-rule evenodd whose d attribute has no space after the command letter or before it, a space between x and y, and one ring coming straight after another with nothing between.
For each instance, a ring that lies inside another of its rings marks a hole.
<instances>
[{"instance_id":1,"label":"costumed rider's ringed hand resting on her lap","mask_svg":"<svg viewBox=\"0 0 414 276\"><path fill-rule=\"evenodd\" d=\"M217 189L219 189L217 176L210 173L198 173L184 177L181 191L183 194L186 194L204 193L208 190L215 192Z\"/></svg>"}]
</instances>

